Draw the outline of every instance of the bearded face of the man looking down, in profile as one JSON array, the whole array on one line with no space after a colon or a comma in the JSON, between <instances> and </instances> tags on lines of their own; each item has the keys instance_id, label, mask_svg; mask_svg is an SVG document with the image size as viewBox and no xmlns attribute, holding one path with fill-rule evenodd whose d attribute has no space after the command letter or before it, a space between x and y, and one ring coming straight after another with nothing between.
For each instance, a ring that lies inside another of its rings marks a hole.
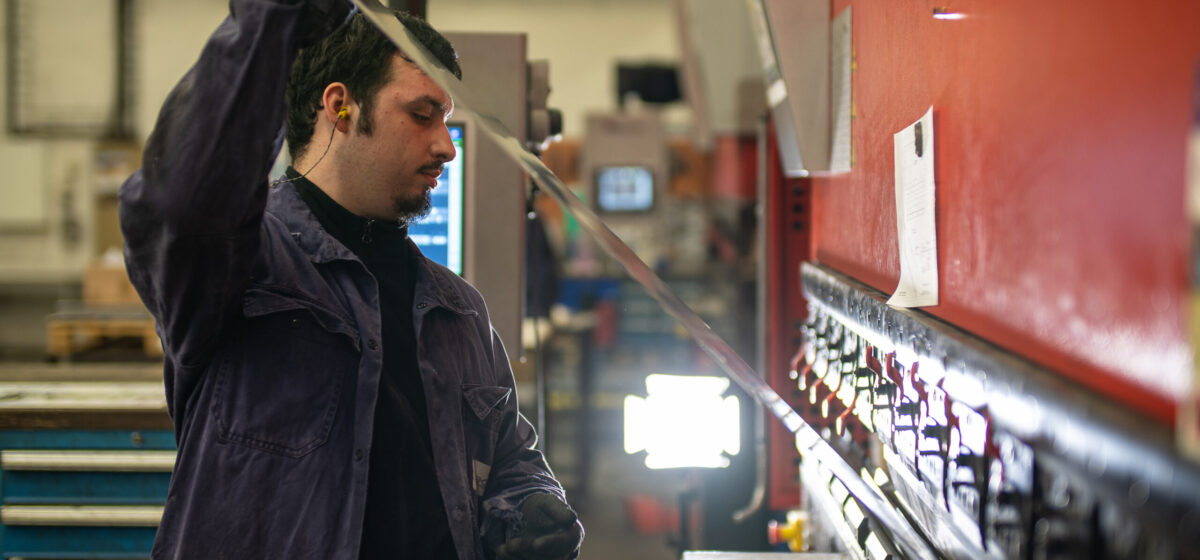
<instances>
[{"instance_id":1,"label":"bearded face of the man looking down, in profile","mask_svg":"<svg viewBox=\"0 0 1200 560\"><path fill-rule=\"evenodd\" d=\"M445 125L454 102L414 64L397 55L391 65L371 108L370 132L360 116L344 153L367 216L410 219L428 211L442 164L455 157Z\"/></svg>"}]
</instances>

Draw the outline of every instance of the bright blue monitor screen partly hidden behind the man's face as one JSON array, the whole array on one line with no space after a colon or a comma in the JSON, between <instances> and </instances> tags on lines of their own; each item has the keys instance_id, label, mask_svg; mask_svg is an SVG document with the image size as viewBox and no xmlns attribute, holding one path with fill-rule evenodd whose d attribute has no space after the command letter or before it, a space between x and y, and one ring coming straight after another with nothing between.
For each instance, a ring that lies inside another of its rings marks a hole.
<instances>
[{"instance_id":1,"label":"bright blue monitor screen partly hidden behind the man's face","mask_svg":"<svg viewBox=\"0 0 1200 560\"><path fill-rule=\"evenodd\" d=\"M433 203L430 215L408 225L408 235L430 258L457 275L462 275L463 237L463 132L461 122L446 125L457 156L446 162L438 177L438 186L430 193Z\"/></svg>"}]
</instances>

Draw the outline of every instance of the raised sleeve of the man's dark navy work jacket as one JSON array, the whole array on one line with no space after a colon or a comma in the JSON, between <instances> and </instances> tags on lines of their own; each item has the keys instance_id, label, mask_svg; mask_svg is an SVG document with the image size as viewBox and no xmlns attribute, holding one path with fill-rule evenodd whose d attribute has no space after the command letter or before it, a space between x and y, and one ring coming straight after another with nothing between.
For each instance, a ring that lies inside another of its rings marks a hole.
<instances>
[{"instance_id":1,"label":"raised sleeve of the man's dark navy work jacket","mask_svg":"<svg viewBox=\"0 0 1200 560\"><path fill-rule=\"evenodd\" d=\"M203 371L238 312L299 43L336 26L300 0L232 0L229 11L167 97L143 168L120 191L126 267L181 375ZM168 392L173 381L187 383L168 380Z\"/></svg>"}]
</instances>

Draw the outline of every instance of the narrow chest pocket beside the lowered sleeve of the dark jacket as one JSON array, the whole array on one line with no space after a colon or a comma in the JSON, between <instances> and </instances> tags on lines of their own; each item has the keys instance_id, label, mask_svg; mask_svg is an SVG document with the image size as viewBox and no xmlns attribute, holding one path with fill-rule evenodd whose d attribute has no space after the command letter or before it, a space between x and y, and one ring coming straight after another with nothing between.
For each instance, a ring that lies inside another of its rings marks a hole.
<instances>
[{"instance_id":1,"label":"narrow chest pocket beside the lowered sleeve of the dark jacket","mask_svg":"<svg viewBox=\"0 0 1200 560\"><path fill-rule=\"evenodd\" d=\"M490 385L462 387L463 435L470 466L470 487L475 495L484 495L496 458L496 441L504 420L504 405L512 390Z\"/></svg>"}]
</instances>

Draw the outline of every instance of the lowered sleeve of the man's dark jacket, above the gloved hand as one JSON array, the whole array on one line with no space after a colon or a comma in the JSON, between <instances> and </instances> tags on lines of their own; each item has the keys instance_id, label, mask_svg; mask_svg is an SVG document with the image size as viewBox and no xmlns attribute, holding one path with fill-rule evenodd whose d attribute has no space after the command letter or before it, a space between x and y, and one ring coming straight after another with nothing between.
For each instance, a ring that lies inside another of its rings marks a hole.
<instances>
[{"instance_id":1,"label":"lowered sleeve of the man's dark jacket, above the gloved hand","mask_svg":"<svg viewBox=\"0 0 1200 560\"><path fill-rule=\"evenodd\" d=\"M497 381L512 389L512 397L504 404L504 423L496 444L496 462L490 472L482 500L480 537L487 558L496 548L521 531L521 505L534 494L550 493L566 502L563 486L538 451L538 434L533 424L517 410L516 383L508 354L496 330L492 330L492 351Z\"/></svg>"}]
</instances>

